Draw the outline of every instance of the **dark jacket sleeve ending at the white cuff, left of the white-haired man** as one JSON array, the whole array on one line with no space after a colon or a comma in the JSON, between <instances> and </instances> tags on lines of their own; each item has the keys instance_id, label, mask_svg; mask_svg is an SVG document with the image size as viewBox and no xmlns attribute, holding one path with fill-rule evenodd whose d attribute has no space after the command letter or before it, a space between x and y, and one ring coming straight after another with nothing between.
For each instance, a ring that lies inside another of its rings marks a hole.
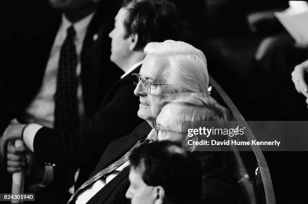
<instances>
[{"instance_id":1,"label":"dark jacket sleeve ending at the white cuff, left of the white-haired man","mask_svg":"<svg viewBox=\"0 0 308 204\"><path fill-rule=\"evenodd\" d=\"M119 86L114 94L109 94L110 101L79 130L62 132L41 128L34 139L36 158L64 165L97 163L110 142L128 134L142 121L137 116L139 99L133 90L132 83Z\"/></svg>"}]
</instances>

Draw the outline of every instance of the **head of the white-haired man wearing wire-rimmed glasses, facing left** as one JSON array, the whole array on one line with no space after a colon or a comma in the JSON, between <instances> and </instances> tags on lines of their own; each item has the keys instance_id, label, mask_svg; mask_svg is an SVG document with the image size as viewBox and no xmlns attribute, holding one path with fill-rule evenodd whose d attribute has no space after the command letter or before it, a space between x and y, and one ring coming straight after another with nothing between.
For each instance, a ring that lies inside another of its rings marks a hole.
<instances>
[{"instance_id":1,"label":"head of the white-haired man wearing wire-rimmed glasses, facing left","mask_svg":"<svg viewBox=\"0 0 308 204\"><path fill-rule=\"evenodd\" d=\"M150 125L160 112L160 102L168 95L183 92L206 93L208 73L203 52L192 45L166 40L151 42L134 91L139 96L138 116Z\"/></svg>"}]
</instances>

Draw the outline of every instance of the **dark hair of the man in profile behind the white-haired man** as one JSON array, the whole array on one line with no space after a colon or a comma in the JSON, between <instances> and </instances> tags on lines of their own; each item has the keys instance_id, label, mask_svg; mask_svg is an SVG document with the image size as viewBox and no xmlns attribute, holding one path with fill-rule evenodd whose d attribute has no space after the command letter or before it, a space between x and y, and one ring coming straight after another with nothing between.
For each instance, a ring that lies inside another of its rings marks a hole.
<instances>
[{"instance_id":1,"label":"dark hair of the man in profile behind the white-haired man","mask_svg":"<svg viewBox=\"0 0 308 204\"><path fill-rule=\"evenodd\" d=\"M143 49L149 42L179 40L182 35L180 16L176 6L166 0L125 0L122 9L126 10L123 25L124 38L138 34L135 49Z\"/></svg>"}]
</instances>

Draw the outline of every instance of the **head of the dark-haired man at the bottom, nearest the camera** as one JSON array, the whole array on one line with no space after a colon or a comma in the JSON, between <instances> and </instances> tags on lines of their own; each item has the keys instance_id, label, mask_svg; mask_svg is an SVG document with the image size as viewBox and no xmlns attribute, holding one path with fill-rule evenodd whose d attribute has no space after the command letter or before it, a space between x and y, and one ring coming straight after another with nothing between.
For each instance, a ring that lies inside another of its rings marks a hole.
<instances>
[{"instance_id":1,"label":"head of the dark-haired man at the bottom, nearest the camera","mask_svg":"<svg viewBox=\"0 0 308 204\"><path fill-rule=\"evenodd\" d=\"M171 141L153 142L130 155L132 204L195 203L201 193L201 167L196 158Z\"/></svg>"}]
</instances>

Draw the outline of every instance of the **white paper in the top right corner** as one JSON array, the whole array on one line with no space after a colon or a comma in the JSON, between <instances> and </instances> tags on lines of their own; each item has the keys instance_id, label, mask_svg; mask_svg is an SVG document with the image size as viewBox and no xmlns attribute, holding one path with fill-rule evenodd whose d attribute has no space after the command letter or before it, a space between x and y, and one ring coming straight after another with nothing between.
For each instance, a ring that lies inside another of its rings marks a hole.
<instances>
[{"instance_id":1,"label":"white paper in the top right corner","mask_svg":"<svg viewBox=\"0 0 308 204\"><path fill-rule=\"evenodd\" d=\"M308 3L289 1L289 8L275 12L280 23L299 45L308 45Z\"/></svg>"}]
</instances>

